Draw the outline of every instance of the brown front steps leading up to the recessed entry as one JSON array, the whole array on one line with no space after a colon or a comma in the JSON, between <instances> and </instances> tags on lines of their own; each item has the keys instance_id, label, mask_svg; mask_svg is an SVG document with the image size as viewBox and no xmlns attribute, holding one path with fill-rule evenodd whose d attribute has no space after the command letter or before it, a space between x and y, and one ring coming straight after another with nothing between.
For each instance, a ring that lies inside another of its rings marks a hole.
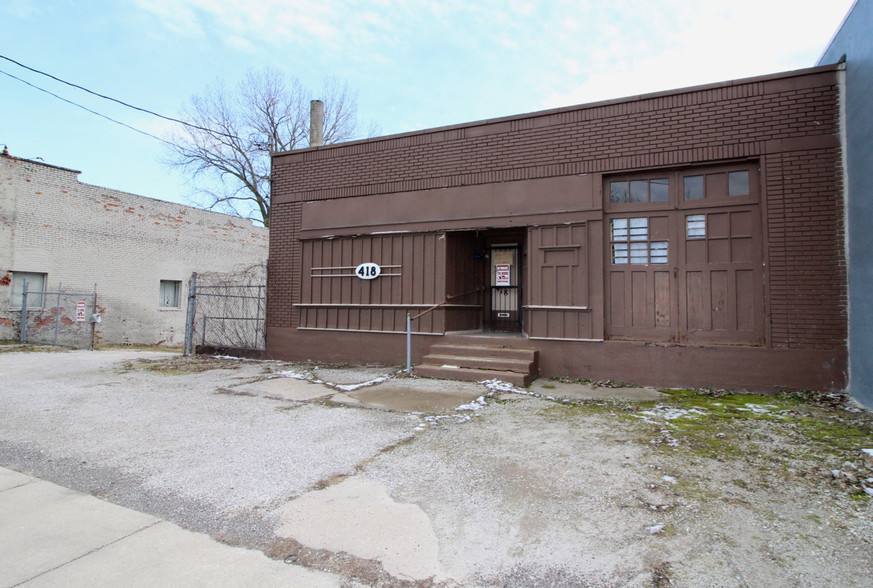
<instances>
[{"instance_id":1,"label":"brown front steps leading up to the recessed entry","mask_svg":"<svg viewBox=\"0 0 873 588\"><path fill-rule=\"evenodd\" d=\"M438 343L415 367L415 373L445 380L501 380L527 386L536 379L539 366L536 349Z\"/></svg>"}]
</instances>

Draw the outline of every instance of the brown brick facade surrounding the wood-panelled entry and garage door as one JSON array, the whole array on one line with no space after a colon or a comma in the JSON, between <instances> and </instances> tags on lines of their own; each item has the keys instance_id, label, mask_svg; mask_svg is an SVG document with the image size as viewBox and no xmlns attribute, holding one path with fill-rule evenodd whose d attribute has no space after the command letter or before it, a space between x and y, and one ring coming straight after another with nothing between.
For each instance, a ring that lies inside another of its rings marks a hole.
<instances>
[{"instance_id":1,"label":"brown brick facade surrounding the wood-panelled entry and garage door","mask_svg":"<svg viewBox=\"0 0 873 588\"><path fill-rule=\"evenodd\" d=\"M840 387L847 275L839 92L839 68L824 66L277 154L268 306L273 349L287 355L286 342L298 326L293 305L300 302L299 238L319 236L305 221L301 225L301 210L304 217L307 210L342 210L331 201L366 210L359 201L368 199L379 216L378 207L426 206L428 198L417 195L428 194L431 201L446 203L442 221L434 213L425 222L426 215L412 211L406 227L362 219L355 228L347 223L350 228L339 230L352 235L421 230L415 227L530 227L546 221L527 209L527 216L512 212L509 197L491 195L493 218L467 218L461 210L466 207L457 204L486 197L491 194L486 188L507 186L510 194L509 186L525 182L581 178L576 195L543 199L542 215L552 215L553 223L587 223L592 234L604 234L600 187L611 174L756 162L764 256L762 347L822 350L828 374L820 381ZM594 178L592 187L586 178ZM527 196L538 197L535 191ZM325 228L321 236L333 231ZM602 275L591 278L591 297L602 301ZM589 311L593 337L603 337L596 332L603 305ZM548 360L543 365L548 369Z\"/></svg>"}]
</instances>

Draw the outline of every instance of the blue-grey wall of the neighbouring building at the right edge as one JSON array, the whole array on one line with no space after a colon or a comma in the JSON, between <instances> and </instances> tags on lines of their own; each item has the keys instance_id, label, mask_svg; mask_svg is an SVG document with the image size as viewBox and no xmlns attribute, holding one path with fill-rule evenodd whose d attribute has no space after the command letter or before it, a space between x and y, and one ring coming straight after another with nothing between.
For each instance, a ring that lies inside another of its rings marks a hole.
<instances>
[{"instance_id":1,"label":"blue-grey wall of the neighbouring building at the right edge","mask_svg":"<svg viewBox=\"0 0 873 588\"><path fill-rule=\"evenodd\" d=\"M873 0L858 0L819 65L846 56L849 390L873 408Z\"/></svg>"}]
</instances>

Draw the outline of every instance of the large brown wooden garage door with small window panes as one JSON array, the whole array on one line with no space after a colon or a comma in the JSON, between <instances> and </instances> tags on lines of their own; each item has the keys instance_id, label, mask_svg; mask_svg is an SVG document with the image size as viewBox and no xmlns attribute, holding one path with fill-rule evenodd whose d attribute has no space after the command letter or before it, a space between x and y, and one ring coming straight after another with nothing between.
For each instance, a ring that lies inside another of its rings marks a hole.
<instances>
[{"instance_id":1,"label":"large brown wooden garage door with small window panes","mask_svg":"<svg viewBox=\"0 0 873 588\"><path fill-rule=\"evenodd\" d=\"M608 337L763 342L754 164L614 177L604 192Z\"/></svg>"}]
</instances>

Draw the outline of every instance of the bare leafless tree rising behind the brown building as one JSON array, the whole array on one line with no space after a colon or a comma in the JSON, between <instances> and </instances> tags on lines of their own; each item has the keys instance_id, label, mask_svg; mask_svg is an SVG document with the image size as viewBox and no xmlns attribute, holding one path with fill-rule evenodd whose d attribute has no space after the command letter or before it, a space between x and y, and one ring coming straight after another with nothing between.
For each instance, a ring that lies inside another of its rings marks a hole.
<instances>
[{"instance_id":1,"label":"bare leafless tree rising behind the brown building","mask_svg":"<svg viewBox=\"0 0 873 588\"><path fill-rule=\"evenodd\" d=\"M270 226L270 152L309 140L310 90L274 69L249 71L235 88L223 82L192 96L171 135L169 163L191 173L202 204ZM324 142L359 136L357 93L324 81ZM371 128L371 132L375 130Z\"/></svg>"}]
</instances>

